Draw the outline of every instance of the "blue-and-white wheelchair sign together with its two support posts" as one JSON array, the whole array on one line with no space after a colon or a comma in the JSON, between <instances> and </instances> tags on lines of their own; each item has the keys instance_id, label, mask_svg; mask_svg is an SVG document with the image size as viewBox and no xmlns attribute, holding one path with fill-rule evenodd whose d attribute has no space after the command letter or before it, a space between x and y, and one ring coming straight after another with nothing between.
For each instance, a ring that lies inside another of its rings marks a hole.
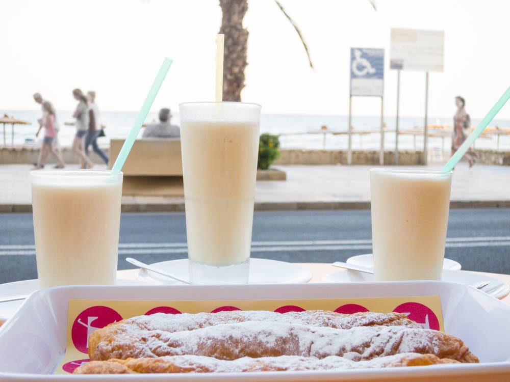
<instances>
[{"instance_id":1,"label":"blue-and-white wheelchair sign together with its two support posts","mask_svg":"<svg viewBox=\"0 0 510 382\"><path fill-rule=\"evenodd\" d=\"M381 148L379 163L384 164L384 49L351 48L349 94L349 146L347 163L352 163L352 97L381 97Z\"/></svg>"}]
</instances>

